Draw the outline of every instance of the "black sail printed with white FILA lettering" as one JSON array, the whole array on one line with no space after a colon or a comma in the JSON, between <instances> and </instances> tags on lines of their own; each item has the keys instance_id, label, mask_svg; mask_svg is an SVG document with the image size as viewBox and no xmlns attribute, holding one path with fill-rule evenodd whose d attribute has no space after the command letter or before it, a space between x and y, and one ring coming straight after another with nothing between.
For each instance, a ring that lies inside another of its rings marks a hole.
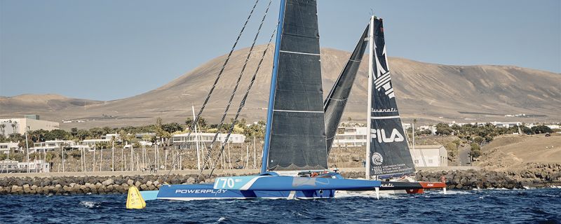
<instances>
[{"instance_id":1,"label":"black sail printed with white FILA lettering","mask_svg":"<svg viewBox=\"0 0 561 224\"><path fill-rule=\"evenodd\" d=\"M414 172L411 153L393 92L384 41L384 26L379 18L372 18L373 44L370 52L371 92L370 109L370 176L401 176ZM374 48L374 49L372 49Z\"/></svg>"}]
</instances>

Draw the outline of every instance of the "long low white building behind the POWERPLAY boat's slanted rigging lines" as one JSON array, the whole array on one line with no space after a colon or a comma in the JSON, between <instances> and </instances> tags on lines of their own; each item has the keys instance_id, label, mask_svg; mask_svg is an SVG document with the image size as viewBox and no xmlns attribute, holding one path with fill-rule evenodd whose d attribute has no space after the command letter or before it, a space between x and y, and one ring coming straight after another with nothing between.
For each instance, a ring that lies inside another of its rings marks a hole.
<instances>
[{"instance_id":1,"label":"long low white building behind the POWERPLAY boat's slanted rigging lines","mask_svg":"<svg viewBox=\"0 0 561 224\"><path fill-rule=\"evenodd\" d=\"M174 134L172 136L173 146L175 149L183 149L183 148L195 148L196 141L195 137L198 137L198 142L201 144L208 144L212 143L212 139L214 139L216 133L191 133L189 138L187 138L187 133L185 134ZM227 134L219 133L216 139L217 142L224 142L226 139ZM230 134L228 138L228 142L231 144L242 144L245 142L245 135L243 134Z\"/></svg>"}]
</instances>

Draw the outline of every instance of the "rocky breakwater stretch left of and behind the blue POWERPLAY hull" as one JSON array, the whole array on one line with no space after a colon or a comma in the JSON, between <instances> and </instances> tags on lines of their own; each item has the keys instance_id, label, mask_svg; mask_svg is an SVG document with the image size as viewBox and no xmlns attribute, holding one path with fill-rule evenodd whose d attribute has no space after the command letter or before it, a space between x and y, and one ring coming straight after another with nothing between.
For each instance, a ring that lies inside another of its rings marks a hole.
<instances>
[{"instance_id":1,"label":"rocky breakwater stretch left of and behind the blue POWERPLAY hull","mask_svg":"<svg viewBox=\"0 0 561 224\"><path fill-rule=\"evenodd\" d=\"M126 193L130 186L158 190L165 175L2 177L0 195L77 195ZM196 175L170 175L170 184L194 183ZM204 179L199 179L204 182ZM210 180L209 180L210 181Z\"/></svg>"}]
</instances>

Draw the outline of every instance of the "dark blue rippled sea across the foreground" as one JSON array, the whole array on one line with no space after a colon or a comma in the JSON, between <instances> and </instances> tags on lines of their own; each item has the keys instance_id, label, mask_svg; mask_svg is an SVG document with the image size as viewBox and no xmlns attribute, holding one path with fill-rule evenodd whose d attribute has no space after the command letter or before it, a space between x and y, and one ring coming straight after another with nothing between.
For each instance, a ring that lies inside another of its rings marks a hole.
<instances>
[{"instance_id":1,"label":"dark blue rippled sea across the foreground","mask_svg":"<svg viewBox=\"0 0 561 224\"><path fill-rule=\"evenodd\" d=\"M0 223L561 223L561 189L339 195L327 200L149 201L126 195L0 196Z\"/></svg>"}]
</instances>

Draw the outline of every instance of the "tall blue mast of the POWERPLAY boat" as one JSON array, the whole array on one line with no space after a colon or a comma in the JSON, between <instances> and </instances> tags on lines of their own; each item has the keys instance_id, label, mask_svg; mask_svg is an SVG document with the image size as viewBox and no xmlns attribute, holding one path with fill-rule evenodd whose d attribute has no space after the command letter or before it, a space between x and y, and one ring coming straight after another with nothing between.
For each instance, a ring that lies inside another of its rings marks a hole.
<instances>
[{"instance_id":1,"label":"tall blue mast of the POWERPLAY boat","mask_svg":"<svg viewBox=\"0 0 561 224\"><path fill-rule=\"evenodd\" d=\"M261 162L261 173L267 172L267 161L269 160L269 142L271 141L271 124L273 123L273 108L275 105L276 76L278 73L278 55L280 54L280 38L283 33L283 20L285 17L286 0L280 0L278 13L278 25L276 28L275 55L273 58L273 74L271 76L271 91L269 92L269 107L267 108L267 121L265 127L265 139L263 146L263 158Z\"/></svg>"}]
</instances>

